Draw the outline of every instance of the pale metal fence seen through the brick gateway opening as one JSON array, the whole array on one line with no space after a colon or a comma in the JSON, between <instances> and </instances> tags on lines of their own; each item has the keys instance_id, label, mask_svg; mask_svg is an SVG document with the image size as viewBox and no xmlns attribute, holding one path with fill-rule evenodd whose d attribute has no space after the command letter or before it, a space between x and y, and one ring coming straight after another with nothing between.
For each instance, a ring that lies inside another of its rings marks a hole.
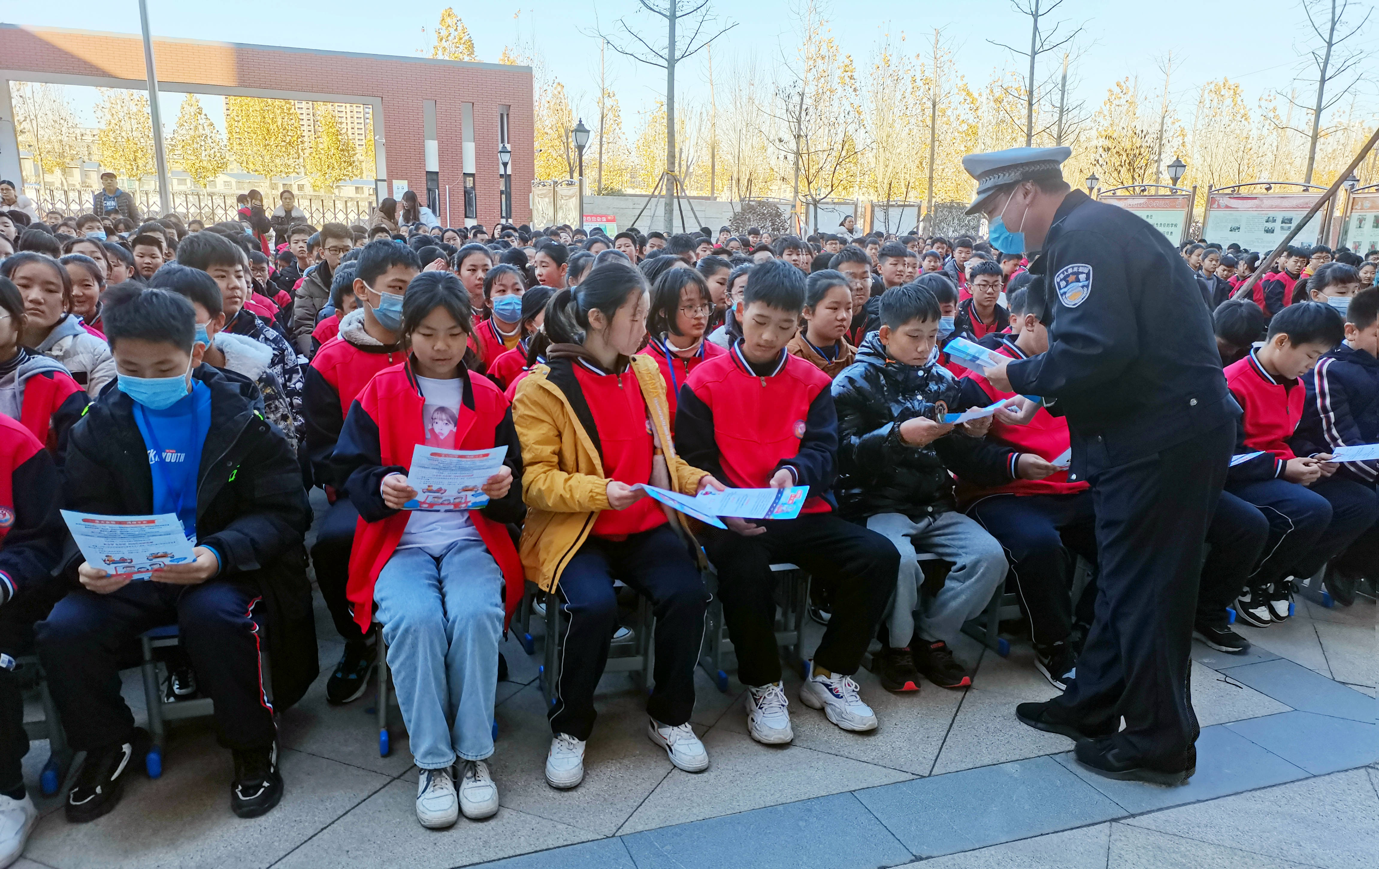
<instances>
[{"instance_id":1,"label":"pale metal fence seen through the brick gateway opening","mask_svg":"<svg viewBox=\"0 0 1379 869\"><path fill-rule=\"evenodd\" d=\"M88 213L91 211L95 190L79 187L25 187L39 208L39 215L58 211L69 218ZM161 213L157 190L130 190L139 215L156 218ZM237 205L233 193L204 193L204 191L174 191L171 197L172 211L183 220L200 220L211 224L221 220L236 220ZM276 205L276 204L274 204ZM265 208L272 212L270 204ZM296 208L306 212L308 220L314 226L323 223L367 223L368 215L374 211L371 197L342 197L342 196L314 196L301 193L296 196Z\"/></svg>"}]
</instances>

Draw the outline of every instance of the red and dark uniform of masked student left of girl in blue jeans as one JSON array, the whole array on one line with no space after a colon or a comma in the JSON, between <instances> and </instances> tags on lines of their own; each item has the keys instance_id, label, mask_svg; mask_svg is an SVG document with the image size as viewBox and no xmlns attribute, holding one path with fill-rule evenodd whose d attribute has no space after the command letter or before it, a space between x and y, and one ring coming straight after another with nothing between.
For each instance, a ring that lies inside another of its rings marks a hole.
<instances>
[{"instance_id":1,"label":"red and dark uniform of masked student left of girl in blue jeans","mask_svg":"<svg viewBox=\"0 0 1379 869\"><path fill-rule=\"evenodd\" d=\"M302 417L313 482L323 486L331 500L312 545L316 583L335 621L335 629L346 642L363 643L364 634L350 616L345 596L350 543L359 511L350 499L338 497L345 481L338 478L331 456L354 398L374 375L403 362L405 354L400 343L381 344L371 337L363 328L361 315L348 320L349 324L342 324L341 333L321 344L306 368Z\"/></svg>"}]
</instances>

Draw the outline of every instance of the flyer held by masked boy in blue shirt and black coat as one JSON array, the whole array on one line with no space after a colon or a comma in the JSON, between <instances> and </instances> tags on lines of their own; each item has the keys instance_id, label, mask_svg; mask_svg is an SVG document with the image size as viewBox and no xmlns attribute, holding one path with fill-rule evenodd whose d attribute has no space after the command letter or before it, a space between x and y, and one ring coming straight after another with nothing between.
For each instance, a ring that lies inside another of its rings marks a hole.
<instances>
[{"instance_id":1,"label":"flyer held by masked boy in blue shirt and black coat","mask_svg":"<svg viewBox=\"0 0 1379 869\"><path fill-rule=\"evenodd\" d=\"M160 567L196 561L177 514L102 516L63 510L62 518L87 563L106 573L149 578Z\"/></svg>"}]
</instances>

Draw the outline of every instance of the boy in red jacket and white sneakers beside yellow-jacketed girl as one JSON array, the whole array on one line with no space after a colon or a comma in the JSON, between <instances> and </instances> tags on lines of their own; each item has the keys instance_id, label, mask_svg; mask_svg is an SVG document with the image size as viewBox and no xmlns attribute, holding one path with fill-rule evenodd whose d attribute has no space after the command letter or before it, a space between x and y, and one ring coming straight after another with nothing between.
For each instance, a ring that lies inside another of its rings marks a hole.
<instances>
[{"instance_id":1,"label":"boy in red jacket and white sneakers beside yellow-jacketed girl","mask_svg":"<svg viewBox=\"0 0 1379 869\"><path fill-rule=\"evenodd\" d=\"M900 259L903 260L903 252ZM876 730L852 673L895 589L900 556L889 540L834 514L838 423L832 381L786 353L804 310L804 275L768 260L747 277L738 304L742 339L690 373L676 413L676 449L728 486L808 486L794 519L725 519L705 529L718 569L728 635L747 686L747 731L765 744L794 738L781 687L774 562L794 562L832 595L833 614L800 687L800 700L844 730Z\"/></svg>"}]
</instances>

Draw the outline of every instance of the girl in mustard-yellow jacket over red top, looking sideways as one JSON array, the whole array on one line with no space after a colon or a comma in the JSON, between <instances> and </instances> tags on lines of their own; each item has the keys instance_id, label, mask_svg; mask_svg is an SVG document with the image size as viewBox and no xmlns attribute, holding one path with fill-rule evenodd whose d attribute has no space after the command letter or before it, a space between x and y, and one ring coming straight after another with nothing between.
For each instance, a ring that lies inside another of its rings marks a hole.
<instances>
[{"instance_id":1,"label":"girl in mustard-yellow jacket over red top, looking sideways","mask_svg":"<svg viewBox=\"0 0 1379 869\"><path fill-rule=\"evenodd\" d=\"M546 365L517 386L513 421L521 441L527 578L554 591L565 621L564 658L550 708L546 781L574 788L585 775L594 724L594 686L616 627L614 580L654 605L655 690L647 735L681 770L709 755L690 727L694 669L709 594L685 537L638 483L695 494L723 489L676 456L665 384L655 361L633 357L647 335L641 273L604 263L546 306Z\"/></svg>"}]
</instances>

